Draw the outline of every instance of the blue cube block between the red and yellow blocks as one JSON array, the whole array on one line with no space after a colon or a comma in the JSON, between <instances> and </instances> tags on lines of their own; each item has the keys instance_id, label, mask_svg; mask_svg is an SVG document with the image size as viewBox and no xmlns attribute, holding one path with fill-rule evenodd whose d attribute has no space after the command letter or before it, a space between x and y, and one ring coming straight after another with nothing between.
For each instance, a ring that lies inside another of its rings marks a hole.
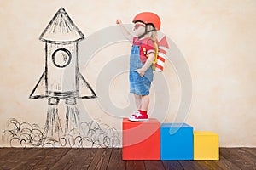
<instances>
[{"instance_id":1,"label":"blue cube block between the red and yellow blocks","mask_svg":"<svg viewBox=\"0 0 256 170\"><path fill-rule=\"evenodd\" d=\"M162 123L161 160L193 160L193 127L186 123Z\"/></svg>"}]
</instances>

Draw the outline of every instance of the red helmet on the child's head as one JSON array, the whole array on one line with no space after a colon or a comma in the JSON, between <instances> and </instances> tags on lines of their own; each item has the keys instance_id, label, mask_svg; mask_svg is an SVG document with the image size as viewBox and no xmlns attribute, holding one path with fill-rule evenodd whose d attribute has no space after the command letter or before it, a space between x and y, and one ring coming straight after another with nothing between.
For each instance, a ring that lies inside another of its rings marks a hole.
<instances>
[{"instance_id":1,"label":"red helmet on the child's head","mask_svg":"<svg viewBox=\"0 0 256 170\"><path fill-rule=\"evenodd\" d=\"M151 12L139 13L132 20L134 23L137 21L141 21L145 24L152 24L157 31L160 30L161 21L157 14Z\"/></svg>"}]
</instances>

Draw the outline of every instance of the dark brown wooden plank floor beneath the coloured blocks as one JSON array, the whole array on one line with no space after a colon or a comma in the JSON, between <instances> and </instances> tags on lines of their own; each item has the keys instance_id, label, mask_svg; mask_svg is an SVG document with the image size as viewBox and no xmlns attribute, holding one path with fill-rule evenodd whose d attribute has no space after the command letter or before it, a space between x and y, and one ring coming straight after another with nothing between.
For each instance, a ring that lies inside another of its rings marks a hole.
<instances>
[{"instance_id":1,"label":"dark brown wooden plank floor beneath the coloured blocks","mask_svg":"<svg viewBox=\"0 0 256 170\"><path fill-rule=\"evenodd\" d=\"M256 148L220 148L219 161L123 161L122 149L0 148L0 169L256 169Z\"/></svg>"}]
</instances>

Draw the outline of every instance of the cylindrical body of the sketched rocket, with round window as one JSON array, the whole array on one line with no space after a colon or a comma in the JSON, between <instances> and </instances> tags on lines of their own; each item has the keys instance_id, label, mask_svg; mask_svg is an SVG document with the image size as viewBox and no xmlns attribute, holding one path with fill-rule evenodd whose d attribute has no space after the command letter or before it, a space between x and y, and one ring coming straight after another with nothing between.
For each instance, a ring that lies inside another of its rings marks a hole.
<instances>
[{"instance_id":1,"label":"cylindrical body of the sketched rocket, with round window","mask_svg":"<svg viewBox=\"0 0 256 170\"><path fill-rule=\"evenodd\" d=\"M50 50L48 50L50 49ZM78 44L46 43L46 77L49 97L78 98Z\"/></svg>"}]
</instances>

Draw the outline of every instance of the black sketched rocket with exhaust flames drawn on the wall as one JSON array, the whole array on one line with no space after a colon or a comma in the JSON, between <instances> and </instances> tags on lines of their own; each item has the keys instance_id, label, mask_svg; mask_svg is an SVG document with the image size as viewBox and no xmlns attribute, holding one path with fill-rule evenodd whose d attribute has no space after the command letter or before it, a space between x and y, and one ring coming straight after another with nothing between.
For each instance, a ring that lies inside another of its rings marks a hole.
<instances>
[{"instance_id":1,"label":"black sketched rocket with exhaust flames drawn on the wall","mask_svg":"<svg viewBox=\"0 0 256 170\"><path fill-rule=\"evenodd\" d=\"M62 132L58 105L65 101L65 133L79 127L77 99L93 99L96 93L79 72L78 44L84 34L74 25L64 8L60 8L39 40L45 42L45 70L29 99L48 99L46 137L59 139Z\"/></svg>"}]
</instances>

